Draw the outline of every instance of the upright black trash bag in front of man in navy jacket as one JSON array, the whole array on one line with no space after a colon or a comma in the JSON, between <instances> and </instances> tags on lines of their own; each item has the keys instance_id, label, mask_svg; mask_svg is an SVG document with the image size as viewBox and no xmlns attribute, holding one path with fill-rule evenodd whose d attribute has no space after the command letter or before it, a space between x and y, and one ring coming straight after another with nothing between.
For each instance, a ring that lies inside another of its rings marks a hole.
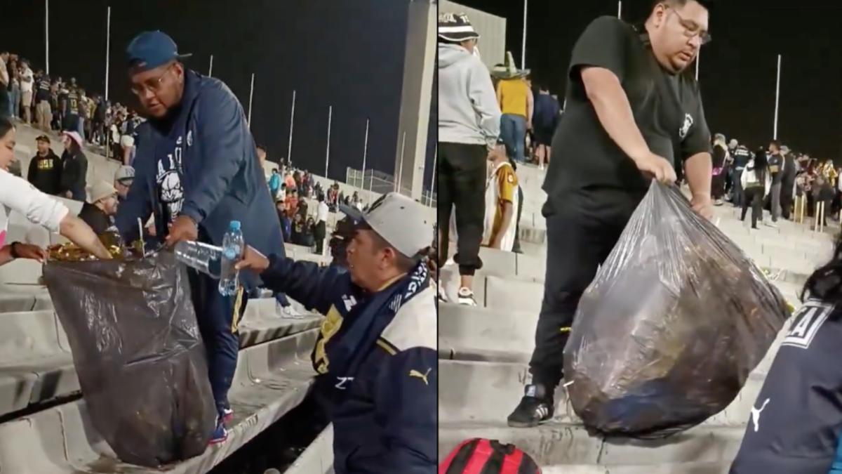
<instances>
[{"instance_id":1,"label":"upright black trash bag in front of man in navy jacket","mask_svg":"<svg viewBox=\"0 0 842 474\"><path fill-rule=\"evenodd\" d=\"M49 262L93 427L120 457L160 466L200 455L216 423L187 272L172 252Z\"/></svg>"}]
</instances>

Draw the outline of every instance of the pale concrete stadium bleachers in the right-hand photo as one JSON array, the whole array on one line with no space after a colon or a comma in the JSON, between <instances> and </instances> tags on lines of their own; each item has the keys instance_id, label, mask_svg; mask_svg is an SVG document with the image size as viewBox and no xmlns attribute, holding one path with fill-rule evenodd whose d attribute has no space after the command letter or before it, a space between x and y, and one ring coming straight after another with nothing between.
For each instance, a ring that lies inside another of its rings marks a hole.
<instances>
[{"instance_id":1,"label":"pale concrete stadium bleachers in the right-hand photo","mask_svg":"<svg viewBox=\"0 0 842 474\"><path fill-rule=\"evenodd\" d=\"M532 455L545 473L726 473L781 335L726 410L669 439L591 436L563 390L557 391L557 412L550 423L539 428L509 428L506 417L530 380L528 362L546 268L546 224L541 218L546 196L540 189L543 173L525 165L519 167L518 175L525 194L520 220L525 253L483 248L484 267L474 283L478 307L439 305L440 459L462 440L482 437L516 444ZM799 306L798 294L806 277L829 260L831 233L838 230L818 234L807 224L788 221L779 223L778 229L749 230L731 206L717 207L714 221L795 306ZM445 266L440 275L454 300L458 270ZM787 327L788 323L785 330Z\"/></svg>"}]
</instances>

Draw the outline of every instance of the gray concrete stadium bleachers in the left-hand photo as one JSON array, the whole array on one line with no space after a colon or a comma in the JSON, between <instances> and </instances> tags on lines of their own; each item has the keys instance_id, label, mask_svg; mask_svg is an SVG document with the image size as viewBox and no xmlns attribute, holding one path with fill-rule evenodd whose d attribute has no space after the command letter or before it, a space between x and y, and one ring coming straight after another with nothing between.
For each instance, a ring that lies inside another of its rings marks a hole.
<instances>
[{"instance_id":1,"label":"gray concrete stadium bleachers in the left-hand photo","mask_svg":"<svg viewBox=\"0 0 842 474\"><path fill-rule=\"evenodd\" d=\"M19 127L17 158L26 170L40 132ZM61 154L61 148L54 150ZM86 151L88 183L111 181L119 164ZM64 200L78 213L80 202ZM312 210L315 206L311 206ZM337 214L330 214L328 232ZM341 218L341 217L340 217ZM61 236L11 217L10 239L40 245L63 242ZM287 255L328 263L309 248L287 245ZM248 440L283 417L305 398L315 374L309 360L321 316L284 319L274 298L251 299L240 328L240 358L229 398L235 411L224 444L203 455L161 469L128 466L116 459L92 428L72 364L72 354L50 295L41 286L41 267L34 261L13 261L0 267L0 467L16 474L70 472L210 471ZM296 309L304 312L300 304ZM330 436L329 429L324 437ZM308 461L312 460L312 461ZM314 443L296 463L301 472L328 472L332 446Z\"/></svg>"}]
</instances>

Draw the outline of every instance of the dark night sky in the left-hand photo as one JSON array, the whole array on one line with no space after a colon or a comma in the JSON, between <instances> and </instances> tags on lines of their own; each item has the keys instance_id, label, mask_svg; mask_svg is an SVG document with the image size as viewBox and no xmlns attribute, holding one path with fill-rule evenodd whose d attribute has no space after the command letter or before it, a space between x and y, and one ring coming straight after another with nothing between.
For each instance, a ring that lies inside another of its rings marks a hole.
<instances>
[{"instance_id":1,"label":"dark night sky in the left-hand photo","mask_svg":"<svg viewBox=\"0 0 842 474\"><path fill-rule=\"evenodd\" d=\"M53 0L50 72L75 76L88 91L104 91L106 7L111 5L110 99L134 104L125 70L125 46L143 30L163 30L187 67L228 84L248 113L256 74L252 132L269 159L287 154L292 91L296 120L292 161L324 174L328 105L333 105L330 177L359 169L370 117L366 168L392 174L397 149L405 31L409 0ZM248 4L248 8L231 8ZM329 7L325 6L329 5ZM0 49L44 66L44 2L3 1ZM429 154L427 179L432 174Z\"/></svg>"}]
</instances>

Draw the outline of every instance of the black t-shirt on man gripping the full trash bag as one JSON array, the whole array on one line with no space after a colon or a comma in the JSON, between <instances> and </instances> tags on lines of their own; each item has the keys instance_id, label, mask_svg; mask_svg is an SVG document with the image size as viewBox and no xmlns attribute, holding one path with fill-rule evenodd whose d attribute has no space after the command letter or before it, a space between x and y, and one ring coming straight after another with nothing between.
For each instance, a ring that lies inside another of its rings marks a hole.
<instances>
[{"instance_id":1,"label":"black t-shirt on man gripping the full trash bag","mask_svg":"<svg viewBox=\"0 0 842 474\"><path fill-rule=\"evenodd\" d=\"M677 165L711 153L711 132L699 86L689 73L667 73L655 59L648 36L614 17L595 19L573 47L567 108L552 140L544 182L551 199L581 191L620 191L642 197L649 179L611 137L585 93L583 67L604 67L620 79L637 127L654 154Z\"/></svg>"}]
</instances>

